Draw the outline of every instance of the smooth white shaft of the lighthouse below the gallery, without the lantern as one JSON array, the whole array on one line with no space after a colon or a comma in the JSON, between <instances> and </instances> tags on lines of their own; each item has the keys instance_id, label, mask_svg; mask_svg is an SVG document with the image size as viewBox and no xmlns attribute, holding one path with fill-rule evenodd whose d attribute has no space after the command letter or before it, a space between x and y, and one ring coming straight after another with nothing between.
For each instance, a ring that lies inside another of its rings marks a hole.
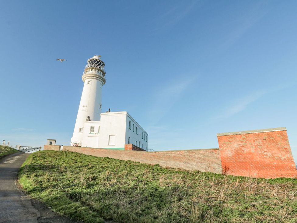
<instances>
[{"instance_id":1,"label":"smooth white shaft of the lighthouse below the gallery, without the lantern","mask_svg":"<svg viewBox=\"0 0 297 223\"><path fill-rule=\"evenodd\" d=\"M72 143L82 143L83 133L79 132L80 127L84 127L87 116L90 116L92 121L100 120L102 104L102 86L103 83L100 80L88 78L84 82L82 90L82 97L79 103L79 109L76 117L73 136L71 138Z\"/></svg>"}]
</instances>

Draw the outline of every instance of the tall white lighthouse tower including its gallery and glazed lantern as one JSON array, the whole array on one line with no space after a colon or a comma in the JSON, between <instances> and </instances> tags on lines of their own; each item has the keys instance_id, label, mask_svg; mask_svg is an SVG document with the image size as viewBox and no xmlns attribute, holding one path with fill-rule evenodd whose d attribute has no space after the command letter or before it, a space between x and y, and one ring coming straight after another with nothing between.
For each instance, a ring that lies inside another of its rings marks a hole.
<instances>
[{"instance_id":1,"label":"tall white lighthouse tower including its gallery and glazed lantern","mask_svg":"<svg viewBox=\"0 0 297 223\"><path fill-rule=\"evenodd\" d=\"M81 145L84 131L84 124L88 121L99 121L102 104L102 86L105 84L104 62L101 56L95 55L88 59L85 71L82 74L84 87L79 103L75 127L71 143Z\"/></svg>"}]
</instances>

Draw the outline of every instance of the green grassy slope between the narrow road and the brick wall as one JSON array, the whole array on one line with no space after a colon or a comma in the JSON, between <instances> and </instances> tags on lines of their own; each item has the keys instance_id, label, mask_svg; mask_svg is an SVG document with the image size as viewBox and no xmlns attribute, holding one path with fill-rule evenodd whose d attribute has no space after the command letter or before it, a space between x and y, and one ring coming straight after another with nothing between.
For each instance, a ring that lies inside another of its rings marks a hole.
<instances>
[{"instance_id":1,"label":"green grassy slope between the narrow road and the brick wall","mask_svg":"<svg viewBox=\"0 0 297 223\"><path fill-rule=\"evenodd\" d=\"M296 222L296 179L182 171L62 151L33 153L19 182L52 210L103 222Z\"/></svg>"}]
</instances>

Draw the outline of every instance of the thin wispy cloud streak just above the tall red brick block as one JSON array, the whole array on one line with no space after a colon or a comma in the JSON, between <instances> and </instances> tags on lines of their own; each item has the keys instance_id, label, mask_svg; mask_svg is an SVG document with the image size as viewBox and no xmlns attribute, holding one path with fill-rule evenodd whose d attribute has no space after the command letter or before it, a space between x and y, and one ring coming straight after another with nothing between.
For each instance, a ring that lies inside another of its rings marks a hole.
<instances>
[{"instance_id":1,"label":"thin wispy cloud streak just above the tall red brick block","mask_svg":"<svg viewBox=\"0 0 297 223\"><path fill-rule=\"evenodd\" d=\"M238 100L234 101L229 107L223 109L222 114L216 116L215 119L227 119L243 111L249 104L253 103L266 93L267 92L265 91L257 91L253 92L250 95L247 95L246 97L239 98Z\"/></svg>"}]
</instances>

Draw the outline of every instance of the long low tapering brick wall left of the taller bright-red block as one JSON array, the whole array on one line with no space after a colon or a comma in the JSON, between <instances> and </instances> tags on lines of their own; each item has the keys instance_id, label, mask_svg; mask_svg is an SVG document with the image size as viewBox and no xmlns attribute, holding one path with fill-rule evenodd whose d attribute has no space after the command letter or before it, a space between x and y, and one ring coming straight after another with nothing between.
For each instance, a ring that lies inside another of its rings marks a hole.
<instances>
[{"instance_id":1,"label":"long low tapering brick wall left of the taller bright-red block","mask_svg":"<svg viewBox=\"0 0 297 223\"><path fill-rule=\"evenodd\" d=\"M131 160L152 165L159 164L163 167L222 173L221 158L218 149L144 152L64 146L63 151L120 160Z\"/></svg>"}]
</instances>

